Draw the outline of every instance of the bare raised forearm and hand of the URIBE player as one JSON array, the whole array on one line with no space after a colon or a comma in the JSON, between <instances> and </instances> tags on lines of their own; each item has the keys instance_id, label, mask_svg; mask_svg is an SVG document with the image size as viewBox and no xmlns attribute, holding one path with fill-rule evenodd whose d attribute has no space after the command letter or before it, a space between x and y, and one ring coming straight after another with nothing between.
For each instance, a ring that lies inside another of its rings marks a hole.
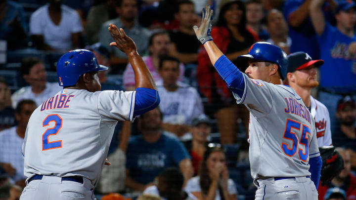
<instances>
[{"instance_id":1,"label":"bare raised forearm and hand of the URIBE player","mask_svg":"<svg viewBox=\"0 0 356 200\"><path fill-rule=\"evenodd\" d=\"M134 69L135 87L157 89L156 83L154 82L150 71L147 69L146 64L143 62L141 56L137 52L137 47L134 43L134 40L128 37L123 29L118 29L113 24L110 24L109 26L109 32L115 40L114 42L110 43L110 46L118 47L128 56L129 62Z\"/></svg>"}]
</instances>

